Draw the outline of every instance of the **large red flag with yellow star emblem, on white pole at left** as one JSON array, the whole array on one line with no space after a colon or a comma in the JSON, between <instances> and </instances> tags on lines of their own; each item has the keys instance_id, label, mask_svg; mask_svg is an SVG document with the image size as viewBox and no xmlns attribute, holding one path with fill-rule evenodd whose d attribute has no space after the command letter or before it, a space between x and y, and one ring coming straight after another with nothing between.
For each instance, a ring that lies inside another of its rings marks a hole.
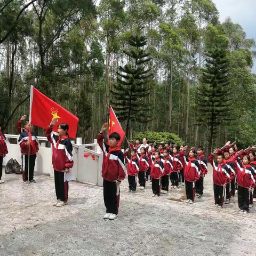
<instances>
[{"instance_id":1,"label":"large red flag with yellow star emblem, on white pole at left","mask_svg":"<svg viewBox=\"0 0 256 256\"><path fill-rule=\"evenodd\" d=\"M33 87L33 86L32 86ZM61 107L53 100L47 98L42 92L33 87L30 91L30 123L46 129L53 118L57 117L58 122L53 126L53 131L58 131L61 123L69 125L68 134L70 138L76 138L78 117Z\"/></svg>"}]
</instances>

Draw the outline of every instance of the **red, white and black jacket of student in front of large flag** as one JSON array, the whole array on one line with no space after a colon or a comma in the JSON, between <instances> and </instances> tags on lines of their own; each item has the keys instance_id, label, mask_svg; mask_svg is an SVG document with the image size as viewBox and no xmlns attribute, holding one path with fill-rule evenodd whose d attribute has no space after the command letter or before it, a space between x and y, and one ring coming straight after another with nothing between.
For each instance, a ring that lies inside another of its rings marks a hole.
<instances>
[{"instance_id":1,"label":"red, white and black jacket of student in front of large flag","mask_svg":"<svg viewBox=\"0 0 256 256\"><path fill-rule=\"evenodd\" d=\"M59 135L52 132L52 127L48 126L46 137L52 144L52 165L57 172L63 172L66 168L73 167L73 146L69 138L59 138Z\"/></svg>"}]
</instances>

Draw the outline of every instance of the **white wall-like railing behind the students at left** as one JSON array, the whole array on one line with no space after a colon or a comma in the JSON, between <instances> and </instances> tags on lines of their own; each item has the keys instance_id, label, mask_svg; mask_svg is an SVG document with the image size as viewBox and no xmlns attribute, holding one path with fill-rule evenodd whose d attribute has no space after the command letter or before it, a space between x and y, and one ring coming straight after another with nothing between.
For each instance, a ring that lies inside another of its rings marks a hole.
<instances>
[{"instance_id":1,"label":"white wall-like railing behind the students at left","mask_svg":"<svg viewBox=\"0 0 256 256\"><path fill-rule=\"evenodd\" d=\"M17 161L21 164L22 159L20 154L20 146L18 145L19 135L5 134L5 137L9 153L4 158L3 165L5 165L11 158L17 159ZM36 157L35 172L54 177L54 170L52 167L52 146L46 147L46 137L38 136L37 138L39 141L43 142L41 145L39 145L39 151ZM9 139L17 139L17 142L10 143ZM90 183L96 186L102 186L101 166L103 155L97 140L94 140L93 143L84 145L78 145L72 141L72 145L74 166L71 171L75 175L74 180ZM93 147L93 150L87 147ZM84 153L86 153L85 156Z\"/></svg>"}]
</instances>

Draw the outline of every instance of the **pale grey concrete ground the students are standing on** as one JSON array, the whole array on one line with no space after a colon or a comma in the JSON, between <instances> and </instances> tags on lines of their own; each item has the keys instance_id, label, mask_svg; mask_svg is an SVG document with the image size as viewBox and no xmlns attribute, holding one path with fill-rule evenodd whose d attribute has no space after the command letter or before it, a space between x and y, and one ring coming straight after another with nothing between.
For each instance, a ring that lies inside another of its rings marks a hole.
<instances>
[{"instance_id":1,"label":"pale grey concrete ground the students are standing on","mask_svg":"<svg viewBox=\"0 0 256 256\"><path fill-rule=\"evenodd\" d=\"M102 188L69 183L68 205L53 207L54 180L5 175L0 185L0 255L256 255L256 211L238 212L237 196L223 209L213 205L212 174L205 194L193 205L185 187L159 198L128 193L121 185L116 220L103 220Z\"/></svg>"}]
</instances>

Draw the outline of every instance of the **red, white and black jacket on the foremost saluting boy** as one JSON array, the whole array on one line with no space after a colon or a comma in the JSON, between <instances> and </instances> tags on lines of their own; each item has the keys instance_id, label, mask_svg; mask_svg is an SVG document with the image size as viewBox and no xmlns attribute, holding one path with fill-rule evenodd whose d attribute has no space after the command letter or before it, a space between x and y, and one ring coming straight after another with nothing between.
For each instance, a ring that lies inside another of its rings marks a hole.
<instances>
[{"instance_id":1,"label":"red, white and black jacket on the foremost saluting boy","mask_svg":"<svg viewBox=\"0 0 256 256\"><path fill-rule=\"evenodd\" d=\"M107 181L122 181L125 178L124 154L121 150L112 151L109 156L108 165L105 158L108 155L109 145L103 142L104 134L97 135L98 144L103 151L102 177Z\"/></svg>"}]
</instances>

